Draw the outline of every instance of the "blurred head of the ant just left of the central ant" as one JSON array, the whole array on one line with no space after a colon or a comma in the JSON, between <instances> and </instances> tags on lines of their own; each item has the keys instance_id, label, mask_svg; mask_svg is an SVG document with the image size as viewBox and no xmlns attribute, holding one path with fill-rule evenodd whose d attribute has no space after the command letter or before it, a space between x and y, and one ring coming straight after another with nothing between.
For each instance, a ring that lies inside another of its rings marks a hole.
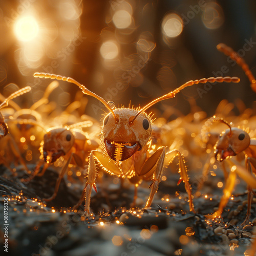
<instances>
[{"instance_id":1,"label":"blurred head of the ant just left of the central ant","mask_svg":"<svg viewBox=\"0 0 256 256\"><path fill-rule=\"evenodd\" d=\"M65 156L74 145L75 138L71 131L58 128L48 131L44 136L44 159L47 163L55 162Z\"/></svg>"}]
</instances>

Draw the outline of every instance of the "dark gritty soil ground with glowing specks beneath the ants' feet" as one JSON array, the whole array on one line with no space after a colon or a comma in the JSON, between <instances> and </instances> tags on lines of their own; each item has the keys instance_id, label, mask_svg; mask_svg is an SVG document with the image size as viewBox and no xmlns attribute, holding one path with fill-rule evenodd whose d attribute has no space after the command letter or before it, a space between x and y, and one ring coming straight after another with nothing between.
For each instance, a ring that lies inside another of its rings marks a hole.
<instances>
[{"instance_id":1,"label":"dark gritty soil ground with glowing specks beneath the ants' feet","mask_svg":"<svg viewBox=\"0 0 256 256\"><path fill-rule=\"evenodd\" d=\"M55 170L48 169L27 184L4 166L1 173L0 212L4 212L8 198L8 222L4 222L4 214L0 218L5 227L0 233L2 244L8 236L6 255L251 255L256 200L250 223L241 226L247 211L245 184L237 185L221 219L205 218L219 205L222 189L216 184L223 178L221 172L209 177L195 194L197 214L189 212L184 186L176 186L178 175L161 182L152 207L147 209L143 206L149 184L141 184L138 207L131 209L134 187L124 183L121 189L120 184L113 183L113 176L104 175L104 182L97 184L98 193L92 194L94 214L85 219L81 218L82 205L77 212L69 211L79 200L81 183L67 185L63 179L57 197L46 205L41 198L52 195L58 176ZM22 171L19 176L23 176Z\"/></svg>"}]
</instances>

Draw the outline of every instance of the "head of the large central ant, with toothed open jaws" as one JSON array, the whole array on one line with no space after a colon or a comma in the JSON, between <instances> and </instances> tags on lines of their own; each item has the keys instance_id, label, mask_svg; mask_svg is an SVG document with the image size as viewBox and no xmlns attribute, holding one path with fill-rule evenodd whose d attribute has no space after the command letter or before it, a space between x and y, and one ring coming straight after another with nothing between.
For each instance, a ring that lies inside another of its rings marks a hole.
<instances>
[{"instance_id":1,"label":"head of the large central ant, with toothed open jaws","mask_svg":"<svg viewBox=\"0 0 256 256\"><path fill-rule=\"evenodd\" d=\"M135 109L114 110L116 119L109 113L103 120L101 143L114 161L124 161L141 150L151 137L151 119ZM134 121L133 121L134 120Z\"/></svg>"}]
</instances>

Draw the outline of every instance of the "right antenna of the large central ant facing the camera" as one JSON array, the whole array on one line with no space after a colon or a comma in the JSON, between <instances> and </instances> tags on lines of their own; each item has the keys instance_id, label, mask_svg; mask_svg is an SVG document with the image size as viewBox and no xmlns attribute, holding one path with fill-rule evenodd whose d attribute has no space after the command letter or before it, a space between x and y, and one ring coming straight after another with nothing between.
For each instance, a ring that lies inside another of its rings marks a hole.
<instances>
[{"instance_id":1,"label":"right antenna of the large central ant facing the camera","mask_svg":"<svg viewBox=\"0 0 256 256\"><path fill-rule=\"evenodd\" d=\"M179 88L175 89L172 92L169 92L165 95L163 95L162 97L159 97L157 99L154 99L153 101L151 101L150 103L148 103L147 105L144 106L144 108L142 108L137 115L134 117L134 119L132 120L132 123L135 121L135 119L142 113L144 112L146 109L150 108L152 105L156 104L157 102L164 100L164 99L170 99L170 98L174 98L176 96L177 93L179 93L181 90L183 90L184 88L188 87L188 86L193 86L194 84L198 84L198 83L206 83L206 82L239 82L240 78L238 77L230 77L230 76L219 76L219 77L209 77L209 78L202 78L200 80L190 80L184 84L182 84L182 86L180 86Z\"/></svg>"}]
</instances>

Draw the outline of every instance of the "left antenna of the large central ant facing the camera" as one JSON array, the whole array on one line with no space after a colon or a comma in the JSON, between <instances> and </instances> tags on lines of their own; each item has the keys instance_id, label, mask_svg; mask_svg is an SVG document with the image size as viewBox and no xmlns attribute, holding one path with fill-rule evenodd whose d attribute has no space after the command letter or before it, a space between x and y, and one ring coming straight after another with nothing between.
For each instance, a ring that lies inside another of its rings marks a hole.
<instances>
[{"instance_id":1,"label":"left antenna of the large central ant facing the camera","mask_svg":"<svg viewBox=\"0 0 256 256\"><path fill-rule=\"evenodd\" d=\"M115 120L117 121L118 118L115 115L114 111L110 108L108 102L106 102L103 98L101 98L100 96L98 96L97 94L91 92L90 90L88 90L86 87L84 87L81 83L79 83L78 81L76 81L75 79L71 78L71 77L66 77L66 76L60 76L60 75L55 75L55 74L50 74L50 73L34 73L34 77L39 77L39 78L50 78L50 79L57 79L57 80L62 80L62 81L67 81L70 83L74 83L76 84L84 94L93 96L94 98L98 99L100 102L102 102L105 107L112 113L113 117L115 118Z\"/></svg>"}]
</instances>

